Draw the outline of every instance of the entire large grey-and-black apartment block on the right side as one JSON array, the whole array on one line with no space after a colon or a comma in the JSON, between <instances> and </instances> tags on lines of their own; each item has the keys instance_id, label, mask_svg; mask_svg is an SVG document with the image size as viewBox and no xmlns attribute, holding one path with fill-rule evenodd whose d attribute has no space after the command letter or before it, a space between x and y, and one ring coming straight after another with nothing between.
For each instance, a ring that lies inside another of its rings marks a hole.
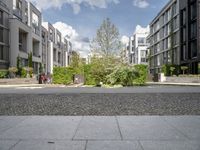
<instances>
[{"instance_id":1,"label":"entire large grey-and-black apartment block on the right side","mask_svg":"<svg viewBox=\"0 0 200 150\"><path fill-rule=\"evenodd\" d=\"M151 22L151 73L160 73L163 64L187 66L188 73L200 73L199 3L200 0L170 0Z\"/></svg>"}]
</instances>

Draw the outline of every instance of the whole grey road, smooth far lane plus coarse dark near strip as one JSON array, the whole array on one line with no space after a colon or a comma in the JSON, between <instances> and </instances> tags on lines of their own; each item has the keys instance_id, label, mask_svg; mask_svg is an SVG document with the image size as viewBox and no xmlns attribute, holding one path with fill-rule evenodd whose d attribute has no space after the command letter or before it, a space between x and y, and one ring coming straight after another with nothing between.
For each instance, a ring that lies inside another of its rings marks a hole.
<instances>
[{"instance_id":1,"label":"whole grey road, smooth far lane plus coarse dark near strip","mask_svg":"<svg viewBox=\"0 0 200 150\"><path fill-rule=\"evenodd\" d=\"M200 87L0 88L0 115L200 115Z\"/></svg>"}]
</instances>

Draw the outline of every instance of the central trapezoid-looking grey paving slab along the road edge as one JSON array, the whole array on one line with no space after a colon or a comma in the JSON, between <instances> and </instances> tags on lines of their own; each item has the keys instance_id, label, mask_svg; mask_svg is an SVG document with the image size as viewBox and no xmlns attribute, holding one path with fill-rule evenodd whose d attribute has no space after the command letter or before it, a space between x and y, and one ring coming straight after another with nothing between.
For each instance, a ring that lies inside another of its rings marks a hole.
<instances>
[{"instance_id":1,"label":"central trapezoid-looking grey paving slab along the road edge","mask_svg":"<svg viewBox=\"0 0 200 150\"><path fill-rule=\"evenodd\" d=\"M74 139L119 140L120 132L115 117L84 117Z\"/></svg>"}]
</instances>

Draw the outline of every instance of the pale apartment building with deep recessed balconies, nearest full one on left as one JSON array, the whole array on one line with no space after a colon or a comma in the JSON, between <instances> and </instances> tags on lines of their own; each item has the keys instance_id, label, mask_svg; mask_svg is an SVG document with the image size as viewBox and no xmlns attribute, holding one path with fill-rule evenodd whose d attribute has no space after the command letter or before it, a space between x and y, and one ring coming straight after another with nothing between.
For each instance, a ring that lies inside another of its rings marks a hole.
<instances>
[{"instance_id":1,"label":"pale apartment building with deep recessed balconies, nearest full one on left","mask_svg":"<svg viewBox=\"0 0 200 150\"><path fill-rule=\"evenodd\" d=\"M42 63L41 12L25 0L13 0L13 17L10 23L10 66L28 66L28 55L33 55L33 71L39 72Z\"/></svg>"}]
</instances>

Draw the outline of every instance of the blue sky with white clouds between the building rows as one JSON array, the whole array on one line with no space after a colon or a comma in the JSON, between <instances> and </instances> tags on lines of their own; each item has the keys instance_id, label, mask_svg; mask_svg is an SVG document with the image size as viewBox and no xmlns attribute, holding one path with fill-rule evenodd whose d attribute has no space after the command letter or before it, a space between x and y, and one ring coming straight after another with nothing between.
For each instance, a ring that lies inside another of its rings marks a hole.
<instances>
[{"instance_id":1,"label":"blue sky with white clouds between the building rows","mask_svg":"<svg viewBox=\"0 0 200 150\"><path fill-rule=\"evenodd\" d=\"M110 18L125 43L137 25L146 27L169 0L29 0L43 21L71 37L73 50L86 57L102 21Z\"/></svg>"}]
</instances>

